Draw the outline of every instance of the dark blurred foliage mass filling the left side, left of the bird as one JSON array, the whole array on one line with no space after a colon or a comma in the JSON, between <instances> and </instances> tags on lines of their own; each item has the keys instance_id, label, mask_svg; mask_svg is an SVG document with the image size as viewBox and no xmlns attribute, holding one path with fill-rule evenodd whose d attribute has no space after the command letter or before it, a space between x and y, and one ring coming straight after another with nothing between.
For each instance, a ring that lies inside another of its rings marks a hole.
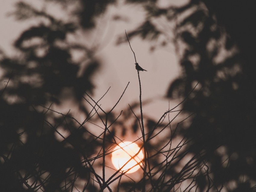
<instances>
[{"instance_id":1,"label":"dark blurred foliage mass filling the left side, left of the bird","mask_svg":"<svg viewBox=\"0 0 256 192\"><path fill-rule=\"evenodd\" d=\"M73 95L73 102L80 105L81 113L89 113L83 105L83 94L92 94L92 76L100 63L93 57L86 58L89 62L81 73L83 61L75 61L73 51L83 51L89 56L91 52L84 45L70 43L68 36L83 27L92 27L92 18L104 11L105 4L81 3L83 25L75 20L59 20L24 2L18 2L12 13L17 20L38 19L40 22L29 26L15 40L18 57L1 52L0 66L4 71L1 82L6 80L6 85L9 79L8 85L2 86L0 99L1 191L25 191L26 188L34 191L40 186L45 191L67 191L61 187L63 182L72 184L78 176L86 180L88 188L94 188L90 171L82 165L81 158L93 154L100 143L89 139L85 127L77 129L78 124L70 119L71 115L56 116L50 109L52 105L63 106L63 98ZM42 106L49 106L50 110ZM68 132L64 142L56 138L58 128ZM74 174L75 179L71 178ZM71 190L71 185L67 186Z\"/></svg>"}]
</instances>

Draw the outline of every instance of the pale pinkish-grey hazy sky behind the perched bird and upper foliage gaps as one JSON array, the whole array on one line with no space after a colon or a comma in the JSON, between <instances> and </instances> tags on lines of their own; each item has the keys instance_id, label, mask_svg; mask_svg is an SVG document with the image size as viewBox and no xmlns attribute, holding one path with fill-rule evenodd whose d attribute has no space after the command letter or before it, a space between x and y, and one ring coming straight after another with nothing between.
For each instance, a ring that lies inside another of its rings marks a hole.
<instances>
[{"instance_id":1,"label":"pale pinkish-grey hazy sky behind the perched bird and upper foliage gaps","mask_svg":"<svg viewBox=\"0 0 256 192\"><path fill-rule=\"evenodd\" d=\"M13 5L15 2L18 1L1 0L0 2L0 23L2 28L0 30L0 47L10 55L16 54L16 51L12 48L13 40L28 26L38 24L36 20L17 22L13 16L7 17L8 13L14 11ZM32 3L28 0L25 2ZM44 6L42 2L33 1L32 5L40 9ZM128 107L128 103L131 104L135 100L139 101L139 82L134 65L134 56L128 42L117 46L116 41L120 35L125 35L125 29L129 32L136 28L144 18L144 12L141 7L138 5L123 5L122 2L120 0L117 5L109 7L106 13L98 19L98 27L84 39L84 42L89 47L99 45L96 57L102 63L100 71L94 76L93 81L96 88L93 98L97 100L111 86L110 91L102 101L103 108L111 108L130 81L120 105L117 106L117 113L119 113L119 110ZM159 1L159 6L164 7L167 2ZM185 1L171 2L183 4ZM49 13L53 13L57 17L61 17L64 14L58 6L46 8ZM114 15L123 16L125 21L112 20ZM160 22L164 23L165 21L160 20ZM168 33L172 33L171 29ZM144 111L148 116L157 117L158 119L168 109L168 100L163 99L163 96L166 94L170 82L179 75L178 58L171 44L151 52L150 47L158 42L143 41L139 37L132 39L130 42L136 54L137 62L142 68L148 70L148 72L140 72L142 100L156 98L154 102L144 106ZM171 106L174 105L172 102L170 104Z\"/></svg>"}]
</instances>

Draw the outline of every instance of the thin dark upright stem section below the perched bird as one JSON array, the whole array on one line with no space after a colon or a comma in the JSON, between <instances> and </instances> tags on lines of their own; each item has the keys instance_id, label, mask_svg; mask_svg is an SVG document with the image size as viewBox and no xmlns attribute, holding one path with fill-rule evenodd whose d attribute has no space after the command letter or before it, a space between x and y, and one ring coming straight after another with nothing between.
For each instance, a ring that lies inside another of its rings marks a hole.
<instances>
[{"instance_id":1,"label":"thin dark upright stem section below the perched bird","mask_svg":"<svg viewBox=\"0 0 256 192\"><path fill-rule=\"evenodd\" d=\"M139 77L139 70L138 70L138 77ZM139 78L139 104L140 104L140 116L141 116L141 126L142 126L142 139L144 145L144 169L143 169L143 180L142 180L142 192L146 191L146 171L147 171L147 147L145 145L145 131L144 131L144 123L143 123L143 114L142 114L142 102L141 102L141 83Z\"/></svg>"}]
</instances>

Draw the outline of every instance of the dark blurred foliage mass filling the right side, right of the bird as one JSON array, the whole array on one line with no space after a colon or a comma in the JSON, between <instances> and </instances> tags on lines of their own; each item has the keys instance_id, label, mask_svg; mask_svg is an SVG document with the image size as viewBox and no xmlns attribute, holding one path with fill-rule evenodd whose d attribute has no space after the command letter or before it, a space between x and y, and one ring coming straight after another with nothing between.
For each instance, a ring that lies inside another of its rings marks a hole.
<instances>
[{"instance_id":1,"label":"dark blurred foliage mass filling the right side, right of the bird","mask_svg":"<svg viewBox=\"0 0 256 192\"><path fill-rule=\"evenodd\" d=\"M129 33L143 39L174 33L169 43L178 50L182 74L171 82L167 97L188 97L184 110L196 114L191 126L181 124L179 134L192 139L190 152L204 152L201 160L209 163L214 184L223 184L228 191L255 190L254 4L190 1L164 9L151 3L145 5L145 23ZM148 20L160 16L174 23L173 31L159 31L160 22L148 30ZM246 181L241 181L244 176ZM235 186L229 188L233 181ZM198 190L204 191L207 177L198 177L197 183Z\"/></svg>"}]
</instances>

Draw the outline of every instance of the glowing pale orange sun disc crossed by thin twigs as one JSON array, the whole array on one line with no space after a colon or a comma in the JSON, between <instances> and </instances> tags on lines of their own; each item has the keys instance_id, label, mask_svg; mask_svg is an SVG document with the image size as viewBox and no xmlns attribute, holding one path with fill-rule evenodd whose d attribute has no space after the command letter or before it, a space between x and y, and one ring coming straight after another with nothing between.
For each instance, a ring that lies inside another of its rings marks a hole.
<instances>
[{"instance_id":1,"label":"glowing pale orange sun disc crossed by thin twigs","mask_svg":"<svg viewBox=\"0 0 256 192\"><path fill-rule=\"evenodd\" d=\"M117 170L120 169L126 162L131 159L131 157L138 153L139 149L139 146L136 143L132 143L131 141L125 141L120 143L119 146L117 145L114 148L111 157L112 163L115 168ZM122 172L130 169L126 173L136 172L140 168L138 163L141 162L143 158L144 155L141 150L138 155L131 159L120 171Z\"/></svg>"}]
</instances>

